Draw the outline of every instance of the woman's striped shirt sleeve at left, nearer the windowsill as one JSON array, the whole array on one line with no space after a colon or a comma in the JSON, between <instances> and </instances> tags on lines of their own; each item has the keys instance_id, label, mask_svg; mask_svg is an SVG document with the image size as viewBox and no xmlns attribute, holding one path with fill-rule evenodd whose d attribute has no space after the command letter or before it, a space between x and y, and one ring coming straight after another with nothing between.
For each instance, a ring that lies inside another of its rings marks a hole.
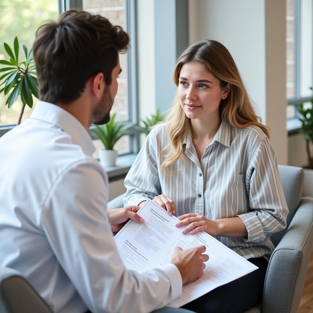
<instances>
[{"instance_id":1,"label":"woman's striped shirt sleeve at left, nearer the windowsill","mask_svg":"<svg viewBox=\"0 0 313 313\"><path fill-rule=\"evenodd\" d=\"M156 146L156 129L153 129L126 175L125 206L138 205L161 194Z\"/></svg>"}]
</instances>

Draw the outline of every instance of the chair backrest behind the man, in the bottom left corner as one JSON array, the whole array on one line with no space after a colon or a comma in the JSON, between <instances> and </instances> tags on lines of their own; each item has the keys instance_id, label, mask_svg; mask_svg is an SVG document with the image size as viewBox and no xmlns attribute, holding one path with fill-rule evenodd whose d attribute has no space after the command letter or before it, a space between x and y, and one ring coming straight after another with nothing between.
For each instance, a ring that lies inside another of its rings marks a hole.
<instances>
[{"instance_id":1,"label":"chair backrest behind the man, in the bottom left corner","mask_svg":"<svg viewBox=\"0 0 313 313\"><path fill-rule=\"evenodd\" d=\"M52 313L36 290L15 269L0 267L1 313Z\"/></svg>"}]
</instances>

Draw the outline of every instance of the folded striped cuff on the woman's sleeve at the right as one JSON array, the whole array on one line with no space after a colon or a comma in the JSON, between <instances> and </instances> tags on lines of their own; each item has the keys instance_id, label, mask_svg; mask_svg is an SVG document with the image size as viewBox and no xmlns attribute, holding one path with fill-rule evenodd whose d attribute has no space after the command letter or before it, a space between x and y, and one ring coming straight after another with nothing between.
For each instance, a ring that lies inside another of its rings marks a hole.
<instances>
[{"instance_id":1,"label":"folded striped cuff on the woman's sleeve at the right","mask_svg":"<svg viewBox=\"0 0 313 313\"><path fill-rule=\"evenodd\" d=\"M263 226L255 212L248 212L236 215L244 223L247 228L248 237L242 237L245 242L262 242L265 239Z\"/></svg>"}]
</instances>

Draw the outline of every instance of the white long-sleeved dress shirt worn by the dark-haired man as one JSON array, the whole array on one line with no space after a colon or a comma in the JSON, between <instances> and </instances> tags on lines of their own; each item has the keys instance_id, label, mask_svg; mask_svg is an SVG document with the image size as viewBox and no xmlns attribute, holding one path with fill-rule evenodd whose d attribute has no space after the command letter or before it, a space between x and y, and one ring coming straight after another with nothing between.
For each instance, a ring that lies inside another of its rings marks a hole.
<instances>
[{"instance_id":1,"label":"white long-sleeved dress shirt worn by the dark-haired man","mask_svg":"<svg viewBox=\"0 0 313 313\"><path fill-rule=\"evenodd\" d=\"M0 265L22 272L54 312L165 306L181 295L181 275L173 264L126 270L94 150L78 120L42 101L0 138Z\"/></svg>"}]
</instances>

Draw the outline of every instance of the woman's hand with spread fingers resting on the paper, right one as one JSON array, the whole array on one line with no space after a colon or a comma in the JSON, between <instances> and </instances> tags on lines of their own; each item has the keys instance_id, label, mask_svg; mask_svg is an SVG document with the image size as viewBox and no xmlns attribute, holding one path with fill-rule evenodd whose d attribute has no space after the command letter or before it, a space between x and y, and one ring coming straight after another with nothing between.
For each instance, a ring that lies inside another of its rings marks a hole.
<instances>
[{"instance_id":1,"label":"woman's hand with spread fingers resting on the paper, right one","mask_svg":"<svg viewBox=\"0 0 313 313\"><path fill-rule=\"evenodd\" d=\"M188 213L178 217L179 222L175 224L176 227L189 224L184 230L183 234L189 232L191 235L204 231L211 236L219 235L219 223L213 219L206 218L200 213Z\"/></svg>"}]
</instances>

